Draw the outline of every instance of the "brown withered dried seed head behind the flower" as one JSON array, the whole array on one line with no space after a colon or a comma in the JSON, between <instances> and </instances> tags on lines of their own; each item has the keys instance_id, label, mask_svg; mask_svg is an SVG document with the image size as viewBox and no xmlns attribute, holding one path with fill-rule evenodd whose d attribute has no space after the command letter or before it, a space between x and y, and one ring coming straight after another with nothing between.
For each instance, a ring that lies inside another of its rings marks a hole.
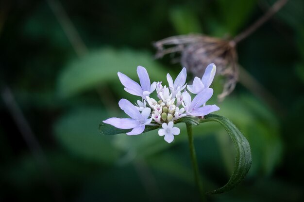
<instances>
[{"instance_id":1,"label":"brown withered dried seed head behind the flower","mask_svg":"<svg viewBox=\"0 0 304 202\"><path fill-rule=\"evenodd\" d=\"M197 77L202 77L208 64L215 63L218 73L225 78L223 92L218 95L220 100L234 90L238 67L233 41L190 34L169 37L154 43L154 46L157 48L156 58L169 53L179 53L180 58L175 58L173 62L181 62Z\"/></svg>"}]
</instances>

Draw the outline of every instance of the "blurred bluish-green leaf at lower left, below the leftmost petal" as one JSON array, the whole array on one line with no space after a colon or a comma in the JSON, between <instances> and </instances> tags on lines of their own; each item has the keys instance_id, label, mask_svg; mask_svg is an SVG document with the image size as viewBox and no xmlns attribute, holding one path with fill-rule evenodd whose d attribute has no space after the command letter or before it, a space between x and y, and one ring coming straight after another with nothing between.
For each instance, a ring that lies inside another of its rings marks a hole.
<instances>
[{"instance_id":1,"label":"blurred bluish-green leaf at lower left, below the leftmost petal","mask_svg":"<svg viewBox=\"0 0 304 202\"><path fill-rule=\"evenodd\" d=\"M112 145L110 136L98 132L104 117L99 108L84 108L64 115L55 124L57 140L74 155L102 163L118 159L119 151Z\"/></svg>"}]
</instances>

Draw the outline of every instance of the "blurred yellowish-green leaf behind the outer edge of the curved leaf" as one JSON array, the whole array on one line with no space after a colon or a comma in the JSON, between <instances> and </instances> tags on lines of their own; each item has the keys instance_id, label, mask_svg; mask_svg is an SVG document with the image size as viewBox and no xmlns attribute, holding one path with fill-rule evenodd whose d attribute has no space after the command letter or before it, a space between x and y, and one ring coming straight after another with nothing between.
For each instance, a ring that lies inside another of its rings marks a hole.
<instances>
[{"instance_id":1,"label":"blurred yellowish-green leaf behind the outer edge of the curved leaf","mask_svg":"<svg viewBox=\"0 0 304 202\"><path fill-rule=\"evenodd\" d=\"M219 106L220 115L232 120L250 142L253 164L248 175L270 174L282 158L278 118L264 103L248 95L230 97ZM233 159L234 154L230 155Z\"/></svg>"}]
</instances>

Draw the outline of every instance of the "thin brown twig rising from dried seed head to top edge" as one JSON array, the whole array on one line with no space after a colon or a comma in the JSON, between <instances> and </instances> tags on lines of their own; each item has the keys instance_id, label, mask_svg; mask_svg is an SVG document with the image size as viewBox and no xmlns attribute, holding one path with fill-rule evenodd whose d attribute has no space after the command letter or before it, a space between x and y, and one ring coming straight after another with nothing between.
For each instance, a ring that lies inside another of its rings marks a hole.
<instances>
[{"instance_id":1,"label":"thin brown twig rising from dried seed head to top edge","mask_svg":"<svg viewBox=\"0 0 304 202\"><path fill-rule=\"evenodd\" d=\"M251 25L249 28L247 28L245 31L238 34L232 41L236 44L246 37L248 37L250 34L252 34L254 31L256 31L259 27L261 27L266 21L270 19L271 16L273 16L276 12L278 12L286 3L288 0L278 0L276 1L268 10L267 13L265 13L264 16L260 17L253 25Z\"/></svg>"}]
</instances>

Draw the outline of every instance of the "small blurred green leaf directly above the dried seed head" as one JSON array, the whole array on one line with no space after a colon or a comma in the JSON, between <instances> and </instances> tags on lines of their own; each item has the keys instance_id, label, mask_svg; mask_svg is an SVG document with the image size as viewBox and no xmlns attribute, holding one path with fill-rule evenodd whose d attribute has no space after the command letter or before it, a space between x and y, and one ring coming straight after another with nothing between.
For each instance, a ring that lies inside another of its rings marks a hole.
<instances>
[{"instance_id":1,"label":"small blurred green leaf directly above the dried seed head","mask_svg":"<svg viewBox=\"0 0 304 202\"><path fill-rule=\"evenodd\" d=\"M170 20L178 34L202 33L198 16L194 11L184 7L174 7L169 11Z\"/></svg>"}]
</instances>

